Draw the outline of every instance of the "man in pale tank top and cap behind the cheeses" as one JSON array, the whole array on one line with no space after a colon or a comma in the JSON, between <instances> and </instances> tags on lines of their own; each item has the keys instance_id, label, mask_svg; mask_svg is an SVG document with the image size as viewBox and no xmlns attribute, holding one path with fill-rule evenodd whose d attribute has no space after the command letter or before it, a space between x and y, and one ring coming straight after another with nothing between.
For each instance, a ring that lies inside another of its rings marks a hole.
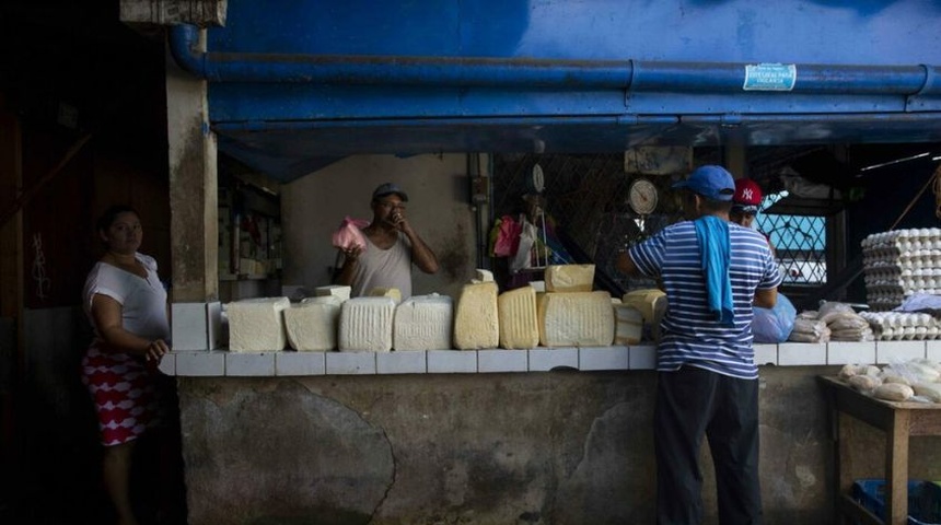
<instances>
[{"instance_id":1,"label":"man in pale tank top and cap behind the cheeses","mask_svg":"<svg viewBox=\"0 0 941 525\"><path fill-rule=\"evenodd\" d=\"M396 288L402 299L411 296L411 264L426 273L438 271L438 258L405 218L408 195L393 183L372 192L372 222L362 229L364 249L342 252L338 284L352 287L351 296L374 288Z\"/></svg>"}]
</instances>

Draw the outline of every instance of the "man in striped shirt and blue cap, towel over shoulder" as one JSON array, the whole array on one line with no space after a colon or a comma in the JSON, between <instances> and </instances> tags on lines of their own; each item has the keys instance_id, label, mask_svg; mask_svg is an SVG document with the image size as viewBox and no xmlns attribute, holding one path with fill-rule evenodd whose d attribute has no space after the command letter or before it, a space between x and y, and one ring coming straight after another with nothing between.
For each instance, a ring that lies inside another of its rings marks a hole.
<instances>
[{"instance_id":1,"label":"man in striped shirt and blue cap, towel over shoulder","mask_svg":"<svg viewBox=\"0 0 941 525\"><path fill-rule=\"evenodd\" d=\"M765 237L729 222L735 183L728 171L701 166L674 188L688 220L618 259L625 273L659 279L667 299L657 352L657 523L702 522L705 435L720 523L760 524L752 306L775 305L781 275Z\"/></svg>"}]
</instances>

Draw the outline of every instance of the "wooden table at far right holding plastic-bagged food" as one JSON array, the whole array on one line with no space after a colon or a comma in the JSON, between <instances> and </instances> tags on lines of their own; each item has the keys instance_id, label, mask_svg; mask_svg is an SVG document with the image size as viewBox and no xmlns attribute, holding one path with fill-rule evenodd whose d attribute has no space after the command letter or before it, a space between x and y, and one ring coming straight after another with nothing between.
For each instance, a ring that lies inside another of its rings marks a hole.
<instances>
[{"instance_id":1,"label":"wooden table at far right holding plastic-bagged food","mask_svg":"<svg viewBox=\"0 0 941 525\"><path fill-rule=\"evenodd\" d=\"M908 522L908 439L917 435L941 435L941 404L895 402L861 394L832 376L820 376L829 408L830 432L837 497L835 523L852 517L863 524L905 525ZM840 446L840 415L856 418L885 432L885 521L857 503L847 489L851 472L840 464L849 457L849 446Z\"/></svg>"}]
</instances>

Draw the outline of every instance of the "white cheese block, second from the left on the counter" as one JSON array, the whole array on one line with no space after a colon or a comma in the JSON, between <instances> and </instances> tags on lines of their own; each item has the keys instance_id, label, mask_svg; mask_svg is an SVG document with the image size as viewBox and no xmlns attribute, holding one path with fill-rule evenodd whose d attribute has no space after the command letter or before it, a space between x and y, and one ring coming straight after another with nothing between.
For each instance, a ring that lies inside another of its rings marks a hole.
<instances>
[{"instance_id":1,"label":"white cheese block, second from the left on the counter","mask_svg":"<svg viewBox=\"0 0 941 525\"><path fill-rule=\"evenodd\" d=\"M328 295L309 298L284 311L288 343L299 352L337 349L340 299Z\"/></svg>"}]
</instances>

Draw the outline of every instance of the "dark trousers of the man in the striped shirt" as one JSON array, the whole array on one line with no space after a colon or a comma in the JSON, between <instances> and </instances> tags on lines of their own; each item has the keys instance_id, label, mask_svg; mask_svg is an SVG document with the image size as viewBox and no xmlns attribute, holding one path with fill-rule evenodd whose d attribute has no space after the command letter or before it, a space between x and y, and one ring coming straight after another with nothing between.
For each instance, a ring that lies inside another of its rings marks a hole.
<instances>
[{"instance_id":1,"label":"dark trousers of the man in the striped shirt","mask_svg":"<svg viewBox=\"0 0 941 525\"><path fill-rule=\"evenodd\" d=\"M759 525L758 381L695 366L658 374L653 410L658 525L702 523L698 459L704 435L716 468L719 523Z\"/></svg>"}]
</instances>

